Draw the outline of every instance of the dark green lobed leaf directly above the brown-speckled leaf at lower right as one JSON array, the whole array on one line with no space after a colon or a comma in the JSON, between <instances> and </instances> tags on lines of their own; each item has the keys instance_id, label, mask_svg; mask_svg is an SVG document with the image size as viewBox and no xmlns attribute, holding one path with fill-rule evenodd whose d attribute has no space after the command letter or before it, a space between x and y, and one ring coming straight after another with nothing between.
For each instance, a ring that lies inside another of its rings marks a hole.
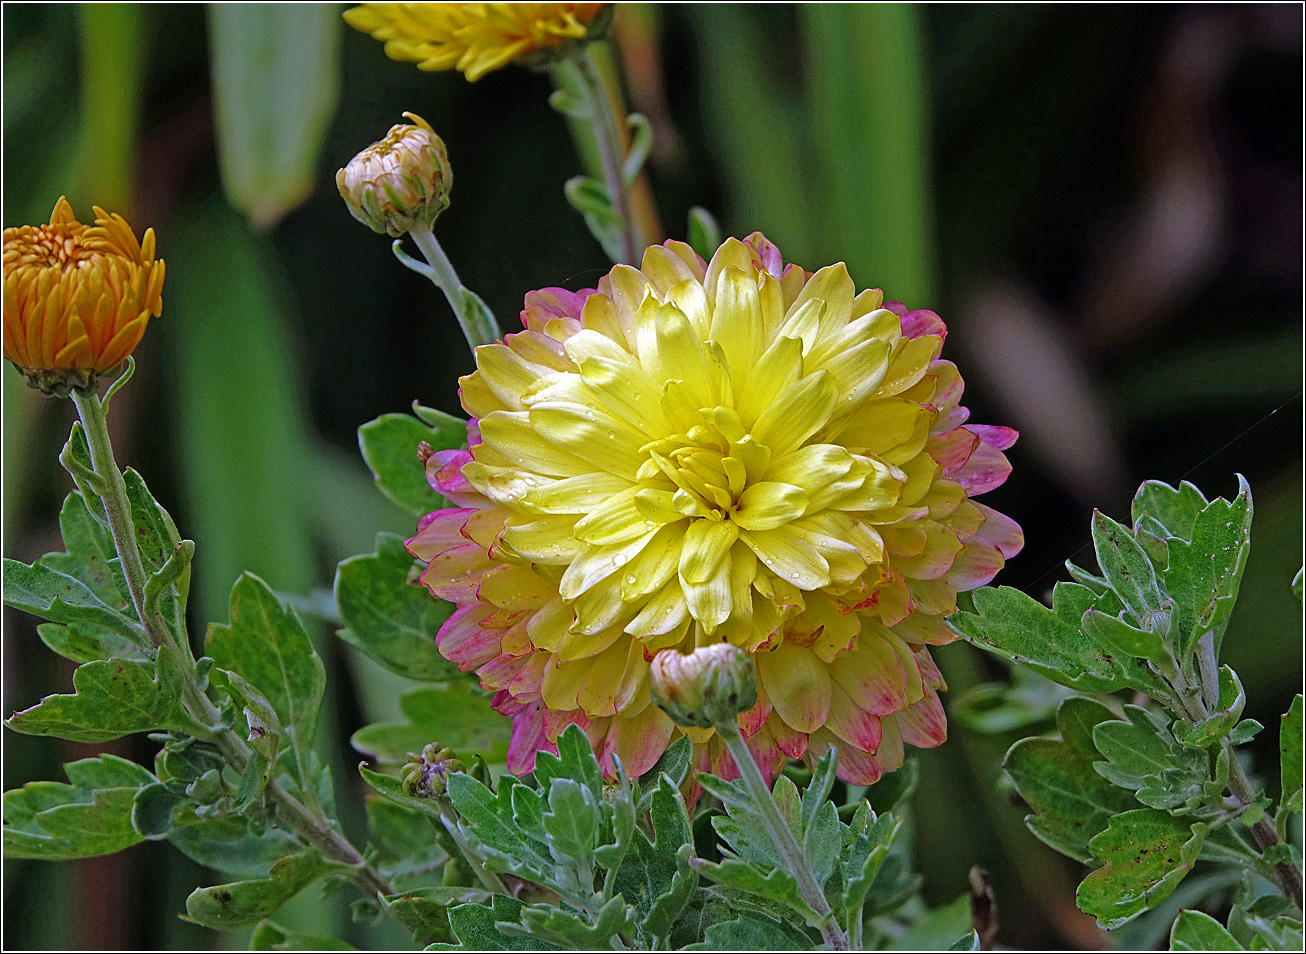
<instances>
[{"instance_id":1,"label":"dark green lobed leaf directly above the brown-speckled leaf at lower right","mask_svg":"<svg viewBox=\"0 0 1306 954\"><path fill-rule=\"evenodd\" d=\"M1098 702L1071 697L1057 710L1060 738L1024 738L1011 746L1003 768L1034 810L1025 825L1038 840L1076 861L1089 861L1089 840L1107 821L1138 802L1093 770L1101 755L1093 727L1114 719Z\"/></svg>"}]
</instances>

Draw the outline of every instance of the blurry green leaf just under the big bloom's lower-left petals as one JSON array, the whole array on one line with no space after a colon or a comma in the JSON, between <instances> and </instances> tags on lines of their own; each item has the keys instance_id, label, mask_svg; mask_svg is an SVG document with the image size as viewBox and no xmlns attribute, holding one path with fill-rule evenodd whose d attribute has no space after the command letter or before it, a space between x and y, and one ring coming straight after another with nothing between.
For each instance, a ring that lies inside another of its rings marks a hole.
<instances>
[{"instance_id":1,"label":"blurry green leaf just under the big bloom's lower-left petals","mask_svg":"<svg viewBox=\"0 0 1306 954\"><path fill-rule=\"evenodd\" d=\"M479 753L488 762L502 762L512 732L509 721L494 711L490 697L466 682L448 689L431 686L400 697L405 724L376 723L354 733L350 742L359 751L383 762L402 763L407 753L439 741L460 758Z\"/></svg>"}]
</instances>

